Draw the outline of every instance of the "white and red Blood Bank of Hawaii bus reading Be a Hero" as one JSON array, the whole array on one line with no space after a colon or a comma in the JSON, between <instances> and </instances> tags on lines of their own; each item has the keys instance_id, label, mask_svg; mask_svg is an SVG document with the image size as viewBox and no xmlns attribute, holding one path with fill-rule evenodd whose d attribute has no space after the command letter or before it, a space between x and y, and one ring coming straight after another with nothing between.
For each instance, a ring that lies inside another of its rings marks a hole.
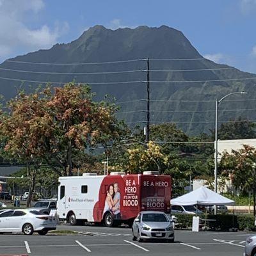
<instances>
[{"instance_id":1,"label":"white and red Blood Bank of Hawaii bus reading Be a Hero","mask_svg":"<svg viewBox=\"0 0 256 256\"><path fill-rule=\"evenodd\" d=\"M170 213L171 178L158 172L60 177L57 211L71 225L84 221L132 224L140 211Z\"/></svg>"}]
</instances>

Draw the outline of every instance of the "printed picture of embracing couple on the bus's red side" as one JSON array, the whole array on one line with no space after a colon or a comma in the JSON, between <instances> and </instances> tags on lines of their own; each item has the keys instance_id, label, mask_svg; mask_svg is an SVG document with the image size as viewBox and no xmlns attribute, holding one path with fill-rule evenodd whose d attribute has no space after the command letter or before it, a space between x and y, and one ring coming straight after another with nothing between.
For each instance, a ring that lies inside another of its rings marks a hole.
<instances>
[{"instance_id":1,"label":"printed picture of embracing couple on the bus's red side","mask_svg":"<svg viewBox=\"0 0 256 256\"><path fill-rule=\"evenodd\" d=\"M113 214L115 220L121 220L121 212L120 212L120 200L121 195L118 188L118 183L115 182L110 184L108 187L108 191L106 192L106 200L104 206L104 212L109 211Z\"/></svg>"}]
</instances>

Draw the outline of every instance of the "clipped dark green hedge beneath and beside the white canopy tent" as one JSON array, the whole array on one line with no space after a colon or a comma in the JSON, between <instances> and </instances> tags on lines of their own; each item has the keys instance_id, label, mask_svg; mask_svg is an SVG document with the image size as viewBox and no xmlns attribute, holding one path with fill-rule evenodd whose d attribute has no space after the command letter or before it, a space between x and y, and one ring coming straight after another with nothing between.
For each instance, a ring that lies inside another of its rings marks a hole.
<instances>
[{"instance_id":1,"label":"clipped dark green hedge beneath and beside the white canopy tent","mask_svg":"<svg viewBox=\"0 0 256 256\"><path fill-rule=\"evenodd\" d=\"M193 214L175 214L177 218L177 228L186 228L191 229ZM200 218L204 219L205 216L202 215ZM255 218L252 214L217 214L217 215L207 215L207 219L216 220L209 221L207 226L211 230L221 230L228 231L230 228L238 228L239 230L255 230L254 221ZM203 224L204 221L200 220L200 223Z\"/></svg>"}]
</instances>

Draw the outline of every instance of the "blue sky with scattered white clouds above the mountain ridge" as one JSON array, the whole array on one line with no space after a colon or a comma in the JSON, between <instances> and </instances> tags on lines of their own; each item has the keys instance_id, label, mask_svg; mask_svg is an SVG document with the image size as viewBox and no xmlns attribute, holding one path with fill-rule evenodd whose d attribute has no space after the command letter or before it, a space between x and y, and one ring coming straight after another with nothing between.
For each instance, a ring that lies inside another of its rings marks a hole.
<instances>
[{"instance_id":1,"label":"blue sky with scattered white clouds above the mountain ridge","mask_svg":"<svg viewBox=\"0 0 256 256\"><path fill-rule=\"evenodd\" d=\"M256 73L256 0L0 0L0 61L101 24L179 29L207 58Z\"/></svg>"}]
</instances>

